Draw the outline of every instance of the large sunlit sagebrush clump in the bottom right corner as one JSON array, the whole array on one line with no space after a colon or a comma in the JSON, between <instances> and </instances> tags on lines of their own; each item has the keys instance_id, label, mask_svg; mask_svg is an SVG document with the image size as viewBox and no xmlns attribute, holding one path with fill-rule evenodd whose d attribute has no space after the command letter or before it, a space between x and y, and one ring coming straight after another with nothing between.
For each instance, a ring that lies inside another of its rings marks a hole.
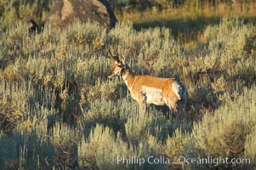
<instances>
[{"instance_id":1,"label":"large sunlit sagebrush clump in the bottom right corner","mask_svg":"<svg viewBox=\"0 0 256 170\"><path fill-rule=\"evenodd\" d=\"M244 102L246 101L246 102ZM254 89L244 90L244 94L230 105L221 106L213 114L206 114L202 122L194 125L191 133L192 148L196 157L242 158L253 154L245 152L253 140L256 120Z\"/></svg>"}]
</instances>

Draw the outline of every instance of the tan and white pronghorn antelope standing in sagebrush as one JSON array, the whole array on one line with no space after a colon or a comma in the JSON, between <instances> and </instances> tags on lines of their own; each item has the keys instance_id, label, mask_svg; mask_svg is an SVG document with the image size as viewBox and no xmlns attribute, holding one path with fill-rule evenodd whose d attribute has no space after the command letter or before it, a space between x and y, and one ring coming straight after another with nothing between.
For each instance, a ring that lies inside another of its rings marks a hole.
<instances>
[{"instance_id":1,"label":"tan and white pronghorn antelope standing in sagebrush","mask_svg":"<svg viewBox=\"0 0 256 170\"><path fill-rule=\"evenodd\" d=\"M114 60L114 67L108 77L120 76L126 83L133 99L139 102L139 109L146 111L146 104L168 105L174 115L183 110L184 101L187 99L187 88L174 78L151 77L135 75L122 56L113 56L111 50L108 58Z\"/></svg>"}]
</instances>

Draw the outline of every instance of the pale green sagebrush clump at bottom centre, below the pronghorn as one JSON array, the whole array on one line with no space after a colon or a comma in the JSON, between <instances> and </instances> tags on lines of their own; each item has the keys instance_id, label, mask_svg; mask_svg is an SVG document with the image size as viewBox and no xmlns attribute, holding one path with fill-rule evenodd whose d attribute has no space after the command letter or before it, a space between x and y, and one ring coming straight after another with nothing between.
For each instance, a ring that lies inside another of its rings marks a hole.
<instances>
[{"instance_id":1,"label":"pale green sagebrush clump at bottom centre, below the pronghorn","mask_svg":"<svg viewBox=\"0 0 256 170\"><path fill-rule=\"evenodd\" d=\"M107 147L106 147L107 146ZM82 139L79 145L79 163L81 167L99 169L161 169L162 166L151 166L149 163L124 163L117 161L121 156L126 159L136 157L137 159L147 156L155 156L154 152L148 148L147 144L140 143L137 147L122 141L120 133L115 133L110 127L96 125L90 133L88 139ZM131 162L131 161L130 161Z\"/></svg>"}]
</instances>

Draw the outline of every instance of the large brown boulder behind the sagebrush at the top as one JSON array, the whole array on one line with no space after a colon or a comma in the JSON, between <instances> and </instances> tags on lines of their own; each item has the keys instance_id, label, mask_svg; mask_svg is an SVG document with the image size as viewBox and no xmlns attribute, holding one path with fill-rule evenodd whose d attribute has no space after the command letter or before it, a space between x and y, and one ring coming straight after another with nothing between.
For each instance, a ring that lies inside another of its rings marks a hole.
<instances>
[{"instance_id":1,"label":"large brown boulder behind the sagebrush at the top","mask_svg":"<svg viewBox=\"0 0 256 170\"><path fill-rule=\"evenodd\" d=\"M55 0L46 17L46 23L51 23L54 29L65 28L76 20L90 20L107 29L111 29L117 22L105 0Z\"/></svg>"}]
</instances>

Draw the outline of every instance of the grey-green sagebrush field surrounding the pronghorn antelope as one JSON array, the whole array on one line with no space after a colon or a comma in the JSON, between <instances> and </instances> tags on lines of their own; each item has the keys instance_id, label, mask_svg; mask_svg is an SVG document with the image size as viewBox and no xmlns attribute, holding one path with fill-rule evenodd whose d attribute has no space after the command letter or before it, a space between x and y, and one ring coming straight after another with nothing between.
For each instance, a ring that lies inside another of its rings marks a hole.
<instances>
[{"instance_id":1,"label":"grey-green sagebrush field surrounding the pronghorn antelope","mask_svg":"<svg viewBox=\"0 0 256 170\"><path fill-rule=\"evenodd\" d=\"M1 6L0 6L1 8ZM3 25L2 25L3 26ZM256 27L234 17L180 41L168 27L111 31L74 23L0 31L1 169L253 169ZM175 77L189 90L181 121L165 107L139 113L122 79L108 79L108 48L137 74ZM117 156L169 158L141 166ZM186 158L249 158L187 164Z\"/></svg>"}]
</instances>

